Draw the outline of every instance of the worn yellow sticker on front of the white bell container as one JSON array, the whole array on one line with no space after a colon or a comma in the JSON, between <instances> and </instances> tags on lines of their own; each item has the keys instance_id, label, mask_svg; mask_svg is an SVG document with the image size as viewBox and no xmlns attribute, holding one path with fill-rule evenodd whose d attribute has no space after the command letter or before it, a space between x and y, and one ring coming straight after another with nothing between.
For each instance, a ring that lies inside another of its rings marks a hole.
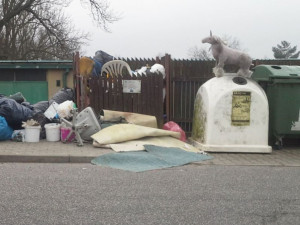
<instances>
[{"instance_id":1,"label":"worn yellow sticker on front of the white bell container","mask_svg":"<svg viewBox=\"0 0 300 225\"><path fill-rule=\"evenodd\" d=\"M232 94L232 126L250 125L251 92L234 91Z\"/></svg>"}]
</instances>

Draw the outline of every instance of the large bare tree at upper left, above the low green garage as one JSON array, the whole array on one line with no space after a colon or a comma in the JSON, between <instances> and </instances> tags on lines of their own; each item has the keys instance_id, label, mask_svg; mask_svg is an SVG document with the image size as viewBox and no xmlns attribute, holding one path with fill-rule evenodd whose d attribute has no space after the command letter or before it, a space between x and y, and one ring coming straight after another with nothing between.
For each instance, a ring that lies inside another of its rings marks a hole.
<instances>
[{"instance_id":1,"label":"large bare tree at upper left, above the low green garage","mask_svg":"<svg viewBox=\"0 0 300 225\"><path fill-rule=\"evenodd\" d=\"M87 38L61 13L72 0L2 0L0 57L7 59L70 58ZM105 0L81 0L89 5L99 27L116 21Z\"/></svg>"}]
</instances>

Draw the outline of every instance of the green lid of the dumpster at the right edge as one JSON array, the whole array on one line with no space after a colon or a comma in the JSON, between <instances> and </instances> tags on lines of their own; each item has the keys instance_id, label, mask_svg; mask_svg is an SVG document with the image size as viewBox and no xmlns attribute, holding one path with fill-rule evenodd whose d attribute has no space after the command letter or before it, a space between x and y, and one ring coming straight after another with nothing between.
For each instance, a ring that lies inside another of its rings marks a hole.
<instances>
[{"instance_id":1,"label":"green lid of the dumpster at the right edge","mask_svg":"<svg viewBox=\"0 0 300 225\"><path fill-rule=\"evenodd\" d=\"M251 76L254 80L270 79L300 79L300 66L284 66L284 65L259 65L254 68Z\"/></svg>"}]
</instances>

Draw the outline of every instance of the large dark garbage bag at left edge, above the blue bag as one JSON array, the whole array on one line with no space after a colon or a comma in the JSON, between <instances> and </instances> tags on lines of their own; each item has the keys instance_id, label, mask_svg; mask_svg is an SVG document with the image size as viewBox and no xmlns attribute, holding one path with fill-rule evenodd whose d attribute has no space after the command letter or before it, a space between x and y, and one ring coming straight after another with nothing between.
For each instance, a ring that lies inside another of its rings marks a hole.
<instances>
[{"instance_id":1,"label":"large dark garbage bag at left edge, above the blue bag","mask_svg":"<svg viewBox=\"0 0 300 225\"><path fill-rule=\"evenodd\" d=\"M13 129L20 129L22 121L27 121L32 114L31 109L17 103L14 99L0 98L0 116L3 116Z\"/></svg>"}]
</instances>

